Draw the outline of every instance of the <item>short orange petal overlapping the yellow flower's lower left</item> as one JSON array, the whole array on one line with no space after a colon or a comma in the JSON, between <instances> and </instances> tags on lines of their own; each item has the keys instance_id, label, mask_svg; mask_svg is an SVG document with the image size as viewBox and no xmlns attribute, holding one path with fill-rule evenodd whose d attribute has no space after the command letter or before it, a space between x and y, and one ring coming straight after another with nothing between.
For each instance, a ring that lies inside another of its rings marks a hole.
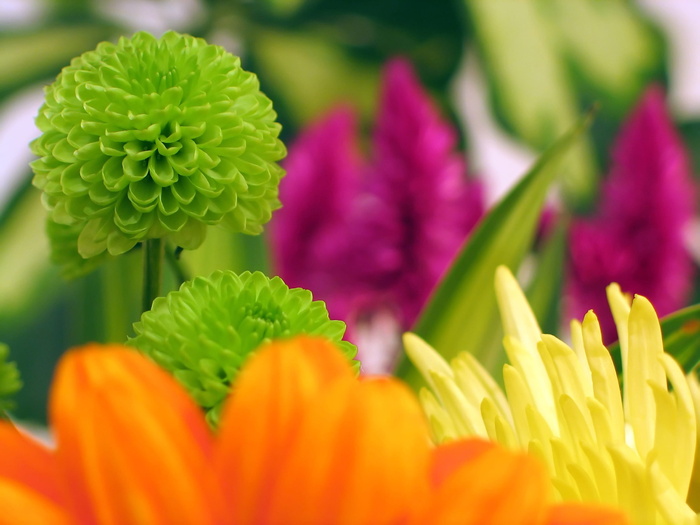
<instances>
[{"instance_id":1,"label":"short orange petal overlapping the yellow flower's lower left","mask_svg":"<svg viewBox=\"0 0 700 525\"><path fill-rule=\"evenodd\" d=\"M450 456L461 464L446 471ZM543 523L549 480L535 458L480 441L462 441L438 448L435 468L438 474L433 479L440 484L427 513L416 523Z\"/></svg>"}]
</instances>

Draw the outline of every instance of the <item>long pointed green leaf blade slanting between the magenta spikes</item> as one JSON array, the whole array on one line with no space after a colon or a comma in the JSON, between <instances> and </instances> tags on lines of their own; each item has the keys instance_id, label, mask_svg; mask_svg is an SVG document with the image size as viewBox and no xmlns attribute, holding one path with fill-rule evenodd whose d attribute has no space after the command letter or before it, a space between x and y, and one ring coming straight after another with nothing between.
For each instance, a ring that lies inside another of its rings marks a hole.
<instances>
[{"instance_id":1,"label":"long pointed green leaf blade slanting between the magenta spikes","mask_svg":"<svg viewBox=\"0 0 700 525\"><path fill-rule=\"evenodd\" d=\"M504 362L494 290L496 268L504 264L516 270L522 262L561 161L591 120L591 113L583 117L489 212L433 293L413 331L445 359L471 352L492 373ZM413 386L421 382L419 372L407 360L397 375Z\"/></svg>"}]
</instances>

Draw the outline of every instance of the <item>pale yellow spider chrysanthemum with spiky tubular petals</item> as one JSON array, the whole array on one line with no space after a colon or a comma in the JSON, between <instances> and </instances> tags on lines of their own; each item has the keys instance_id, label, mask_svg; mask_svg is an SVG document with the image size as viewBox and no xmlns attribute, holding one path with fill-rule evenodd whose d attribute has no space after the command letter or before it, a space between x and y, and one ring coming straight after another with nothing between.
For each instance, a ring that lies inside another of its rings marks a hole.
<instances>
[{"instance_id":1,"label":"pale yellow spider chrysanthemum with spiky tubular petals","mask_svg":"<svg viewBox=\"0 0 700 525\"><path fill-rule=\"evenodd\" d=\"M542 334L517 281L496 273L510 364L505 393L470 354L448 365L413 334L404 343L432 392L421 399L435 438L482 436L547 464L565 501L612 504L640 525L700 523L687 503L697 440L693 383L664 353L651 303L608 287L622 384L590 311L572 322L573 348ZM624 393L624 395L623 395Z\"/></svg>"}]
</instances>

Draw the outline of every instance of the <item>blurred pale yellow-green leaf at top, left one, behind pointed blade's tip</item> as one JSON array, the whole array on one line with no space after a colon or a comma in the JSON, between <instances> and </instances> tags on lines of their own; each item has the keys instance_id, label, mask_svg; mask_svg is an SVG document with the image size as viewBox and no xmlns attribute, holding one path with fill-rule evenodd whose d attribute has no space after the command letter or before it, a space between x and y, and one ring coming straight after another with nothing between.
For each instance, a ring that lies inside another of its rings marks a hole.
<instances>
[{"instance_id":1,"label":"blurred pale yellow-green leaf at top, left one, behind pointed blade's tip","mask_svg":"<svg viewBox=\"0 0 700 525\"><path fill-rule=\"evenodd\" d=\"M527 143L546 147L576 119L578 100L540 3L465 3L498 115ZM592 147L583 140L571 150L563 189L585 201L596 187Z\"/></svg>"}]
</instances>

